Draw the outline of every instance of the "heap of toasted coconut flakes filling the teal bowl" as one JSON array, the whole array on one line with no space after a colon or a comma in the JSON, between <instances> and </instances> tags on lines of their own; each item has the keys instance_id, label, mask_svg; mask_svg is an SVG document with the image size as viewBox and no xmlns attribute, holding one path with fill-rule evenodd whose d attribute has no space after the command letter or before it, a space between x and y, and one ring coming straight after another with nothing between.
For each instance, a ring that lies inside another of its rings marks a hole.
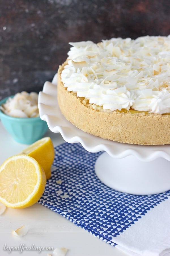
<instances>
[{"instance_id":1,"label":"heap of toasted coconut flakes filling the teal bowl","mask_svg":"<svg viewBox=\"0 0 170 256\"><path fill-rule=\"evenodd\" d=\"M36 92L18 92L13 98L8 98L0 109L9 116L27 118L38 117L38 94Z\"/></svg>"}]
</instances>

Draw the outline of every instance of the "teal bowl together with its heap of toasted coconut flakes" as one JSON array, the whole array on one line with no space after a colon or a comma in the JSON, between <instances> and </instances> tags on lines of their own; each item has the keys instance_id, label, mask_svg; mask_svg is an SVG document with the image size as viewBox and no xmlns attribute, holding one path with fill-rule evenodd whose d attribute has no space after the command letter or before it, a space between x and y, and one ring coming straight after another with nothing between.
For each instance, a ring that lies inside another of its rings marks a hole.
<instances>
[{"instance_id":1,"label":"teal bowl together with its heap of toasted coconut flakes","mask_svg":"<svg viewBox=\"0 0 170 256\"><path fill-rule=\"evenodd\" d=\"M18 92L0 101L0 119L5 129L19 143L32 144L48 130L39 117L38 94Z\"/></svg>"}]
</instances>

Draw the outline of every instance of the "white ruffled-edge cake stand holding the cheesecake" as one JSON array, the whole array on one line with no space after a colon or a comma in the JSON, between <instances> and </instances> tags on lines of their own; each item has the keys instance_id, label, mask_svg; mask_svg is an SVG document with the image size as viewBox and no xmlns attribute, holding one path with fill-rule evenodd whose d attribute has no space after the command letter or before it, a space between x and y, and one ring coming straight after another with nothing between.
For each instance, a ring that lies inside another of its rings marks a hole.
<instances>
[{"instance_id":1,"label":"white ruffled-edge cake stand holding the cheesecake","mask_svg":"<svg viewBox=\"0 0 170 256\"><path fill-rule=\"evenodd\" d=\"M40 117L68 143L81 143L89 152L105 151L95 163L98 178L118 191L148 195L170 189L170 145L140 146L102 139L76 128L61 114L57 74L39 92ZM133 131L132 131L133 132Z\"/></svg>"}]
</instances>

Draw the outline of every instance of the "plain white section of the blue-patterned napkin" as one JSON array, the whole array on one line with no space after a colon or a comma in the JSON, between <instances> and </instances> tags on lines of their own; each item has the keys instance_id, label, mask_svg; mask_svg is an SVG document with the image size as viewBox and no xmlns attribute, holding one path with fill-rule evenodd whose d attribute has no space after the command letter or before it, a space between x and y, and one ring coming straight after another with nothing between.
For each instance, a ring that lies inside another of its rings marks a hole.
<instances>
[{"instance_id":1,"label":"plain white section of the blue-patterned napkin","mask_svg":"<svg viewBox=\"0 0 170 256\"><path fill-rule=\"evenodd\" d=\"M170 197L148 210L112 242L132 256L170 256Z\"/></svg>"}]
</instances>

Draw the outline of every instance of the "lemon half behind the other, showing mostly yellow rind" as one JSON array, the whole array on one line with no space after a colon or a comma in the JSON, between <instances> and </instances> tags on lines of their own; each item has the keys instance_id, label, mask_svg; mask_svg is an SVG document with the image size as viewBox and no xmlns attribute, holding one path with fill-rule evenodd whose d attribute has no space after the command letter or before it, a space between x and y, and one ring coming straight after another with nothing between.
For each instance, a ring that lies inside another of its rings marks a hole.
<instances>
[{"instance_id":1,"label":"lemon half behind the other, showing mostly yellow rind","mask_svg":"<svg viewBox=\"0 0 170 256\"><path fill-rule=\"evenodd\" d=\"M51 166L54 161L55 152L50 137L44 137L25 148L21 154L33 157L44 169L46 178L51 177Z\"/></svg>"}]
</instances>

